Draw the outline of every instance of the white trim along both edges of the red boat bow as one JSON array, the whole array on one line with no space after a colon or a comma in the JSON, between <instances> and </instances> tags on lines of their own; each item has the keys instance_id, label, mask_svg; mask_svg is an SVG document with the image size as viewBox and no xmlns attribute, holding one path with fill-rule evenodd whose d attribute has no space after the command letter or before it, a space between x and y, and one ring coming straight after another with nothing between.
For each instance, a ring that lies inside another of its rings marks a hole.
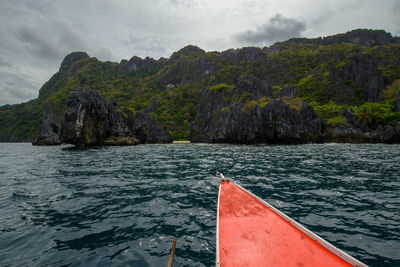
<instances>
[{"instance_id":1,"label":"white trim along both edges of the red boat bow","mask_svg":"<svg viewBox=\"0 0 400 267\"><path fill-rule=\"evenodd\" d=\"M232 183L232 182L231 182ZM285 221L287 221L288 223L292 224L294 227L296 227L297 229L299 229L300 231L302 231L304 234L308 235L310 238L312 238L313 240L317 241L321 246L325 247L326 249L328 249L329 251L331 251L332 253L336 254L337 256L339 256L340 258L344 259L345 261L347 261L348 263L352 264L353 266L360 266L360 267L364 267L367 266L364 263L358 261L357 259L353 258L352 256L350 256L349 254L347 254L346 252L338 249L337 247L335 247L334 245L332 245L331 243L329 243L328 241L326 241L325 239L323 239L322 237L316 235L315 233L311 232L310 230L308 230L306 227L304 227L303 225L301 225L300 223L296 222L295 220L293 220L292 218L290 218L289 216L287 216L286 214L284 214L283 212L279 211L277 208L275 208L274 206L272 206L271 204L269 204L268 202L262 200L261 198L259 198L258 196L254 195L253 193L251 193L250 191L244 189L243 187L241 187L240 185L233 183L235 185L237 185L239 188L241 188L243 191L245 191L246 193L250 194L251 196L253 196L255 199L257 199L258 201L260 201L262 204L264 204L265 206L267 206L268 208L270 208L271 210L273 210L276 214L278 214L279 216L282 217L282 219L284 219ZM221 185L219 187L219 191L221 192ZM218 193L218 217L219 217L219 194ZM218 224L219 224L219 218L217 217L217 231L218 231ZM218 233L218 232L217 232ZM218 234L217 234L217 238L218 238ZM217 250L217 255L218 255L218 250ZM218 255L218 262L219 262L219 255ZM217 265L219 266L219 265Z\"/></svg>"}]
</instances>

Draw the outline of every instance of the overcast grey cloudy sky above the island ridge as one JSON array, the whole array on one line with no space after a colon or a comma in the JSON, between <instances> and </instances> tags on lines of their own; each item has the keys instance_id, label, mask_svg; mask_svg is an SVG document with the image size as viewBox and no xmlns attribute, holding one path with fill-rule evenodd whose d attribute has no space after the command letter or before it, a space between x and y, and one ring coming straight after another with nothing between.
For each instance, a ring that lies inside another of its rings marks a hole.
<instances>
[{"instance_id":1,"label":"overcast grey cloudy sky above the island ridge","mask_svg":"<svg viewBox=\"0 0 400 267\"><path fill-rule=\"evenodd\" d=\"M400 35L398 0L0 0L0 105L25 102L64 56L169 57L356 28Z\"/></svg>"}]
</instances>

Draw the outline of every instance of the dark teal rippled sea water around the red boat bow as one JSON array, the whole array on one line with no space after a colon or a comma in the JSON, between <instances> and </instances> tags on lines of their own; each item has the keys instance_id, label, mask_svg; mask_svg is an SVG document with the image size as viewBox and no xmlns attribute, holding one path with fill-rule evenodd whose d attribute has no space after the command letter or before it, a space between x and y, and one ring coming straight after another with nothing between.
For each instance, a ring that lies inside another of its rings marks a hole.
<instances>
[{"instance_id":1,"label":"dark teal rippled sea water around the red boat bow","mask_svg":"<svg viewBox=\"0 0 400 267\"><path fill-rule=\"evenodd\" d=\"M400 265L400 146L0 144L0 265L215 260L217 172L372 266Z\"/></svg>"}]
</instances>

